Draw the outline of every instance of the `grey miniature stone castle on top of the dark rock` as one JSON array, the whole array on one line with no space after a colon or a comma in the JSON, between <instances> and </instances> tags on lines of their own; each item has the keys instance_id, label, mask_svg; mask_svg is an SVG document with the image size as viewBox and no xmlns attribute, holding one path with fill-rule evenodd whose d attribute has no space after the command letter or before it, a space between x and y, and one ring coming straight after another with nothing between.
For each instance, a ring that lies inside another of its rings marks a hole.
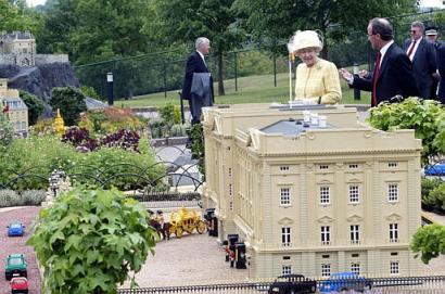
<instances>
[{"instance_id":1,"label":"grey miniature stone castle on top of the dark rock","mask_svg":"<svg viewBox=\"0 0 445 294\"><path fill-rule=\"evenodd\" d=\"M36 66L68 62L67 54L36 54L36 39L28 30L0 34L0 64Z\"/></svg>"}]
</instances>

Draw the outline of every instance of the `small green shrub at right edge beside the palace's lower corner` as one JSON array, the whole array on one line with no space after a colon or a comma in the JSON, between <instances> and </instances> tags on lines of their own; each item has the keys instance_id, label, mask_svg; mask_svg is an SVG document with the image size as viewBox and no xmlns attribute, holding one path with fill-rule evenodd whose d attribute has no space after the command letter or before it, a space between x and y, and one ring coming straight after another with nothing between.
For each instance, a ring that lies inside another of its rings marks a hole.
<instances>
[{"instance_id":1,"label":"small green shrub at right edge beside the palace's lower corner","mask_svg":"<svg viewBox=\"0 0 445 294\"><path fill-rule=\"evenodd\" d=\"M420 258L424 264L438 255L445 254L445 226L428 225L417 230L411 241L411 250L420 253Z\"/></svg>"}]
</instances>

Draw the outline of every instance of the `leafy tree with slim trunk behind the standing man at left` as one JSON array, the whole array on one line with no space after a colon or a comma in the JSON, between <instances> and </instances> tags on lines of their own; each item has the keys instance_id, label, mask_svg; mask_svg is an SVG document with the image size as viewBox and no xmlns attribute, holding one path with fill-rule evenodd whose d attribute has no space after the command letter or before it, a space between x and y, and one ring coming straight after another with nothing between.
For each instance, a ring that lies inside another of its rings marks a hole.
<instances>
[{"instance_id":1,"label":"leafy tree with slim trunk behind the standing man at left","mask_svg":"<svg viewBox=\"0 0 445 294\"><path fill-rule=\"evenodd\" d=\"M237 23L234 0L154 0L148 29L169 43L211 40L218 64L218 94L224 95L224 54L242 44L244 31Z\"/></svg>"}]
</instances>

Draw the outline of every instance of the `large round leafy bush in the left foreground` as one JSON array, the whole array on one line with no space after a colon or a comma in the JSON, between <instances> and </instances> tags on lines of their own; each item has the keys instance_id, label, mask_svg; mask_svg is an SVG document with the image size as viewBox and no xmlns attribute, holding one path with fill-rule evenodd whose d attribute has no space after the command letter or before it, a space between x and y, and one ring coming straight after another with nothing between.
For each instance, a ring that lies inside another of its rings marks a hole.
<instances>
[{"instance_id":1,"label":"large round leafy bush in the left foreground","mask_svg":"<svg viewBox=\"0 0 445 294\"><path fill-rule=\"evenodd\" d=\"M43 267L43 289L117 293L117 283L138 272L154 251L156 233L148 219L141 204L115 189L79 186L60 195L40 213L27 242Z\"/></svg>"}]
</instances>

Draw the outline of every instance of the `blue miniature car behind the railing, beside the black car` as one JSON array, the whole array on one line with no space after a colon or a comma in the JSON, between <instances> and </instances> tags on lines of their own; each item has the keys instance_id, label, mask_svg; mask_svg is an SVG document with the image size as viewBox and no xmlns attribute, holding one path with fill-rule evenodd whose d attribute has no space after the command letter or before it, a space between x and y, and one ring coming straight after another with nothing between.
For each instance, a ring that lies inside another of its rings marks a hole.
<instances>
[{"instance_id":1,"label":"blue miniature car behind the railing, beside the black car","mask_svg":"<svg viewBox=\"0 0 445 294\"><path fill-rule=\"evenodd\" d=\"M340 292L340 291L358 291L365 292L372 287L372 280L366 279L354 272L333 273L328 280L320 282L320 292Z\"/></svg>"}]
</instances>

